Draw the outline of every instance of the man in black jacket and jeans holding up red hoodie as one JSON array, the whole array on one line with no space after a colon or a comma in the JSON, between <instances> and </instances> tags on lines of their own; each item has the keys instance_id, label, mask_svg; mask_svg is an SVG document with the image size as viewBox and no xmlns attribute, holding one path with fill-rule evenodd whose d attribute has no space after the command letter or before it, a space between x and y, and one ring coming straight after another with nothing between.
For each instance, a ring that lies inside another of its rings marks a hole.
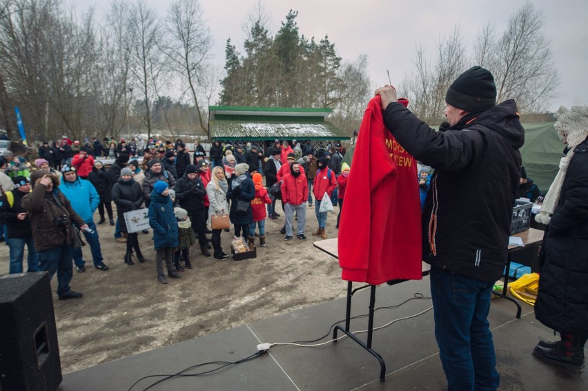
<instances>
[{"instance_id":1,"label":"man in black jacket and jeans holding up red hoodie","mask_svg":"<svg viewBox=\"0 0 588 391\"><path fill-rule=\"evenodd\" d=\"M423 257L431 263L435 337L449 389L496 390L500 376L487 316L507 259L520 177L525 131L516 103L496 106L494 78L479 66L451 83L443 132L398 103L392 86L376 95L398 143L435 168L422 212Z\"/></svg>"}]
</instances>

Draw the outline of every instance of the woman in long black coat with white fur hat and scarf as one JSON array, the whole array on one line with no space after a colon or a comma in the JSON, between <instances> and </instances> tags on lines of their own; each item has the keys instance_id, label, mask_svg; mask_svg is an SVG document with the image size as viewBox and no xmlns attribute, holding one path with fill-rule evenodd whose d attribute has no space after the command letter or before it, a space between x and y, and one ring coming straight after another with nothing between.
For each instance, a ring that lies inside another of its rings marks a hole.
<instances>
[{"instance_id":1,"label":"woman in long black coat with white fur hat and scarf","mask_svg":"<svg viewBox=\"0 0 588 391\"><path fill-rule=\"evenodd\" d=\"M567 148L537 216L548 225L535 316L560 332L561 341L542 340L533 354L580 372L588 339L588 106L561 108L557 115L554 127Z\"/></svg>"}]
</instances>

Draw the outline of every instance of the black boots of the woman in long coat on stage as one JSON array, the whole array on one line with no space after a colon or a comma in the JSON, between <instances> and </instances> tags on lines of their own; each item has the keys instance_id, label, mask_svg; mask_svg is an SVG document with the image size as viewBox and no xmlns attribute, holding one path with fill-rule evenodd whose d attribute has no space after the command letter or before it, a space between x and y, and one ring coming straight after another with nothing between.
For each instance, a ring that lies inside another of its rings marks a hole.
<instances>
[{"instance_id":1,"label":"black boots of the woman in long coat on stage","mask_svg":"<svg viewBox=\"0 0 588 391\"><path fill-rule=\"evenodd\" d=\"M560 365L574 372L584 370L584 345L588 336L561 333L561 343L553 348L537 345L533 354L542 361L553 365Z\"/></svg>"}]
</instances>

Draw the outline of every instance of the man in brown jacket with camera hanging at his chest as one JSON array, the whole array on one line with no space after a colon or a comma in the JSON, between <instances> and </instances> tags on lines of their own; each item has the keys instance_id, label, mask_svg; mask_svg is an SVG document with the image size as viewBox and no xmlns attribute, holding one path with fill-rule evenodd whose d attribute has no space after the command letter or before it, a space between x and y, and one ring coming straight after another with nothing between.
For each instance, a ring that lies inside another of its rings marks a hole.
<instances>
[{"instance_id":1,"label":"man in brown jacket with camera hanging at his chest","mask_svg":"<svg viewBox=\"0 0 588 391\"><path fill-rule=\"evenodd\" d=\"M72 224L80 230L88 228L70 205L70 201L57 188L59 179L39 170L30 176L32 191L26 194L21 205L28 212L32 226L32 237L39 255L39 270L57 272L57 295L59 300L78 299L83 295L70 288L72 279Z\"/></svg>"}]
</instances>

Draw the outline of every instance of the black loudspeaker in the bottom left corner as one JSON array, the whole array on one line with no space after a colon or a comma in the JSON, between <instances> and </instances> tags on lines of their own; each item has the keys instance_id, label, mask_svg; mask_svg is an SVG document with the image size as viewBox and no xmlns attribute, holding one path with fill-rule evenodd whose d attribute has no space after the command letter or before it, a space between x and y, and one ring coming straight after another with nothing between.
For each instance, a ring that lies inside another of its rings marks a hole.
<instances>
[{"instance_id":1,"label":"black loudspeaker in the bottom left corner","mask_svg":"<svg viewBox=\"0 0 588 391\"><path fill-rule=\"evenodd\" d=\"M0 391L55 391L61 361L49 274L0 277Z\"/></svg>"}]
</instances>

